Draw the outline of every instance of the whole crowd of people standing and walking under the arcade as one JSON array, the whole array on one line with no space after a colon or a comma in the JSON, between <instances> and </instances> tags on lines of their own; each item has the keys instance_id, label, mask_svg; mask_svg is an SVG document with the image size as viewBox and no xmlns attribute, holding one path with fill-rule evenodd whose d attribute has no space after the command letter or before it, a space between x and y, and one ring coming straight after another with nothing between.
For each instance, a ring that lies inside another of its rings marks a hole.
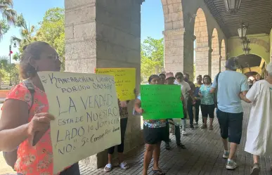
<instances>
[{"instance_id":1,"label":"whole crowd of people standing and walking under the arcade","mask_svg":"<svg viewBox=\"0 0 272 175\"><path fill-rule=\"evenodd\" d=\"M6 160L17 171L18 175L53 174L53 154L50 138L50 121L54 119L48 113L48 101L44 87L37 72L60 71L58 53L43 41L34 41L24 48L20 59L20 74L26 81L18 84L8 93L2 108L0 119L0 151L5 151ZM226 71L214 77L198 75L196 83L190 82L189 74L172 72L153 74L148 84L165 84L181 87L183 102L183 119L144 119L143 138L145 154L143 161L143 175L148 174L148 167L153 158L153 172L165 174L160 168L161 143L170 149L169 134L176 136L176 145L181 149L186 146L181 143L181 135L186 136L186 119L190 119L190 129L195 129L199 122L199 113L202 113L201 129L213 129L214 112L220 125L220 134L224 145L222 157L227 159L226 169L235 169L238 165L234 161L235 152L242 136L243 108L242 102L252 103L250 120L247 128L247 142L245 151L251 153L254 164L251 175L260 171L259 156L272 153L272 63L266 67L266 79L253 84L252 88L244 74L236 72L238 61L229 58L226 61ZM129 101L119 102L120 128L122 143L117 145L119 167L129 169L125 162L124 136L127 128ZM195 117L193 108L195 108ZM16 109L16 110L15 110ZM136 94L134 115L142 115L145 109L141 108L141 93ZM209 122L208 122L209 117ZM193 121L195 119L195 122ZM44 131L45 134L37 145L32 146L34 133ZM230 147L228 146L230 143ZM112 170L112 154L115 147L108 148L108 164L104 171ZM11 160L13 154L14 162ZM72 164L59 173L60 175L79 175L78 163Z\"/></svg>"}]
</instances>

